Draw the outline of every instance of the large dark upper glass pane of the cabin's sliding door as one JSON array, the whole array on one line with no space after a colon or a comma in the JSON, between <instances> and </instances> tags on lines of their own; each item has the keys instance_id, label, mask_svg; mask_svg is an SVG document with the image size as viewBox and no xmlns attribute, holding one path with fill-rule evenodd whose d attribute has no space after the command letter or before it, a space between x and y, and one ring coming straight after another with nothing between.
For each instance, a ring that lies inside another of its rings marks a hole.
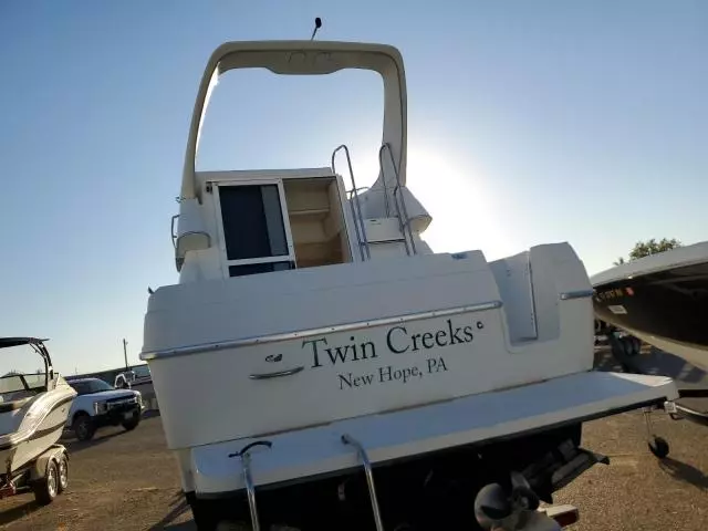
<instances>
[{"instance_id":1,"label":"large dark upper glass pane of the cabin's sliding door","mask_svg":"<svg viewBox=\"0 0 708 531\"><path fill-rule=\"evenodd\" d=\"M288 254L277 185L221 186L219 197L228 260Z\"/></svg>"}]
</instances>

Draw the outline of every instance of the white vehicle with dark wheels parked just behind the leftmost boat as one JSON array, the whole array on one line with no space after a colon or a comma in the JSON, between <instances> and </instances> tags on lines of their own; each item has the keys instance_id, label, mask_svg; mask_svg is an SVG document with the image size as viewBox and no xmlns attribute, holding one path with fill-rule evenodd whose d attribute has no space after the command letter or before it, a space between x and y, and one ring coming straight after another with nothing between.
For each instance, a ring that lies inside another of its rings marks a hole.
<instances>
[{"instance_id":1,"label":"white vehicle with dark wheels parked just behind the leftmost boat","mask_svg":"<svg viewBox=\"0 0 708 531\"><path fill-rule=\"evenodd\" d=\"M66 428L79 440L91 440L96 429L119 426L133 430L143 416L143 397L138 391L116 389L100 378L69 379L76 391Z\"/></svg>"}]
</instances>

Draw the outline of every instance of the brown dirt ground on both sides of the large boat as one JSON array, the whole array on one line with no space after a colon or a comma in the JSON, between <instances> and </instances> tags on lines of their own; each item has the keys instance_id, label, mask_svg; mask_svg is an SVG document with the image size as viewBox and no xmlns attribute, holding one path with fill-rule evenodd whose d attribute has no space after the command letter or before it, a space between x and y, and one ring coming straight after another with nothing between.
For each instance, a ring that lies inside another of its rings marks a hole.
<instances>
[{"instance_id":1,"label":"brown dirt ground on both sides of the large boat","mask_svg":"<svg viewBox=\"0 0 708 531\"><path fill-rule=\"evenodd\" d=\"M670 444L664 461L647 449L641 413L585 425L583 446L607 455L611 464L595 466L556 493L556 502L580 509L572 531L708 529L708 428L656 414L655 429ZM0 500L1 529L195 529L158 416L131 433L105 428L88 444L65 444L69 490L43 508L31 493Z\"/></svg>"}]
</instances>

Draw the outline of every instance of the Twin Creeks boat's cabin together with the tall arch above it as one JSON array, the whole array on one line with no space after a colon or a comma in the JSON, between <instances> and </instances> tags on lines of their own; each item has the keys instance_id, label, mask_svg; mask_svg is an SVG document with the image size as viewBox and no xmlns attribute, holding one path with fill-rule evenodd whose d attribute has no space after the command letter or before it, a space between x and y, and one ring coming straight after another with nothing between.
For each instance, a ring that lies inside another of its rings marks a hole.
<instances>
[{"instance_id":1,"label":"Twin Creeks boat's cabin together with the tall arch above it","mask_svg":"<svg viewBox=\"0 0 708 531\"><path fill-rule=\"evenodd\" d=\"M357 188L345 145L334 149L331 166L324 168L198 171L199 133L219 76L252 67L283 75L326 75L343 69L379 73L385 108L374 185L365 191ZM405 186L405 123L403 59L391 46L321 42L220 46L199 86L180 210L173 218L180 283L426 252L419 235L430 216ZM339 173L336 162L347 171Z\"/></svg>"}]
</instances>

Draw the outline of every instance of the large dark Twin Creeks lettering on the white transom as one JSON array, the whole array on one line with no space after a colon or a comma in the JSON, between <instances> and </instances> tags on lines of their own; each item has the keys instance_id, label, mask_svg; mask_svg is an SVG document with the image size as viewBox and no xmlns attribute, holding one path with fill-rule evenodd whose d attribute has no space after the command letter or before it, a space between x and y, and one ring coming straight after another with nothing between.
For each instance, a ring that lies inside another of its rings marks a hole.
<instances>
[{"instance_id":1,"label":"large dark Twin Creeks lettering on the white transom","mask_svg":"<svg viewBox=\"0 0 708 531\"><path fill-rule=\"evenodd\" d=\"M446 320L446 325L429 332L409 332L410 326L396 325L386 331L386 350L392 354L406 354L431 348L444 348L475 340L476 330L482 330L485 324L477 321L473 324L458 326L451 319ZM379 351L375 341L364 339L358 341L354 335L345 344L331 344L326 337L313 337L302 341L302 348L312 352L312 368L325 365L337 365L379 357Z\"/></svg>"}]
</instances>

